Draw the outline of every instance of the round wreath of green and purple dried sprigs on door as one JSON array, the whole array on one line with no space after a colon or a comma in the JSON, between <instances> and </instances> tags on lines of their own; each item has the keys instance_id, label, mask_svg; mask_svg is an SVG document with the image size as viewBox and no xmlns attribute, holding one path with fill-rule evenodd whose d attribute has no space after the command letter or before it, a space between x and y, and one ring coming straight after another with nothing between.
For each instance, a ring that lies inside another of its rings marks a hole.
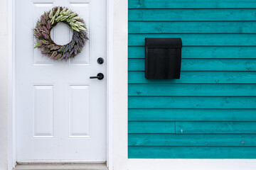
<instances>
[{"instance_id":1,"label":"round wreath of green and purple dried sprigs on door","mask_svg":"<svg viewBox=\"0 0 256 170\"><path fill-rule=\"evenodd\" d=\"M66 45L57 45L50 38L50 30L59 22L68 24L73 30L73 38ZM43 55L47 55L53 60L67 61L69 58L75 57L89 40L85 22L78 16L78 13L60 6L43 13L33 29L33 35L36 38L35 48L40 48Z\"/></svg>"}]
</instances>

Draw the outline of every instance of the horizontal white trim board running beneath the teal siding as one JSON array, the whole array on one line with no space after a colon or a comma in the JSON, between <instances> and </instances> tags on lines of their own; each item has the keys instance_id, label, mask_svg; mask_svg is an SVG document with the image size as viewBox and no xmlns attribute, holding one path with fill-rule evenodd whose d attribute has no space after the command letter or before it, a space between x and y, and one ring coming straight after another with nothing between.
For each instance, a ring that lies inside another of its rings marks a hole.
<instances>
[{"instance_id":1,"label":"horizontal white trim board running beneath the teal siding","mask_svg":"<svg viewBox=\"0 0 256 170\"><path fill-rule=\"evenodd\" d=\"M255 159L129 159L129 170L255 170Z\"/></svg>"}]
</instances>

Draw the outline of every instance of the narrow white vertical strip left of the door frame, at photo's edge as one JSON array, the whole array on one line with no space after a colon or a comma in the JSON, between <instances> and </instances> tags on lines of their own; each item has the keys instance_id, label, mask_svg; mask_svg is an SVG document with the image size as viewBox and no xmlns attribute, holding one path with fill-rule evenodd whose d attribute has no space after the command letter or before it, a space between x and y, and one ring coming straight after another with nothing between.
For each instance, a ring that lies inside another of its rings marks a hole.
<instances>
[{"instance_id":1,"label":"narrow white vertical strip left of the door frame, at photo's edge","mask_svg":"<svg viewBox=\"0 0 256 170\"><path fill-rule=\"evenodd\" d=\"M8 157L8 36L7 0L0 1L0 169L7 169Z\"/></svg>"}]
</instances>

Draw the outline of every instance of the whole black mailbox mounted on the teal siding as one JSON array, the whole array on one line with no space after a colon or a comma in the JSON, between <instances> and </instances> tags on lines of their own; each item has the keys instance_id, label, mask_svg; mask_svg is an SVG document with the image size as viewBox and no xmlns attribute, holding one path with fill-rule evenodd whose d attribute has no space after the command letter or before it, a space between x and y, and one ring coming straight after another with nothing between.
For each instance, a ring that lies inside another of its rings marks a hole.
<instances>
[{"instance_id":1,"label":"whole black mailbox mounted on the teal siding","mask_svg":"<svg viewBox=\"0 0 256 170\"><path fill-rule=\"evenodd\" d=\"M146 79L179 79L181 38L145 38Z\"/></svg>"}]
</instances>

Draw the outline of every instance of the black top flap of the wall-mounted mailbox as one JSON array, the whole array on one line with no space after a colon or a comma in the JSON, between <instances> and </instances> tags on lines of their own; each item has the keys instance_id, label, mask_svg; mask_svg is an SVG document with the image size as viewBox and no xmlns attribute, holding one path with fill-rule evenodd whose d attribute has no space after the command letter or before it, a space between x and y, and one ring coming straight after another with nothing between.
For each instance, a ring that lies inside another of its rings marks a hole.
<instances>
[{"instance_id":1,"label":"black top flap of the wall-mounted mailbox","mask_svg":"<svg viewBox=\"0 0 256 170\"><path fill-rule=\"evenodd\" d=\"M181 38L145 38L147 48L181 48Z\"/></svg>"}]
</instances>

